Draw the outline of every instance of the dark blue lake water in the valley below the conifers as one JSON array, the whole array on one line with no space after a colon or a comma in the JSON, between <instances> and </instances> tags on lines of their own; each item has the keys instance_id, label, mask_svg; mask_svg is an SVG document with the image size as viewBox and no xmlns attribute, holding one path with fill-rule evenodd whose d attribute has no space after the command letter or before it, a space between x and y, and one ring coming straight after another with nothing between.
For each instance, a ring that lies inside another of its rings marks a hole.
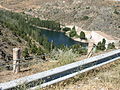
<instances>
[{"instance_id":1,"label":"dark blue lake water in the valley below the conifers","mask_svg":"<svg viewBox=\"0 0 120 90\"><path fill-rule=\"evenodd\" d=\"M81 44L83 47L86 47L87 44L80 43L74 41L73 39L69 38L63 32L55 32L49 30L41 30L42 35L46 36L50 42L54 42L55 45L65 45L65 46L72 46L74 44Z\"/></svg>"}]
</instances>

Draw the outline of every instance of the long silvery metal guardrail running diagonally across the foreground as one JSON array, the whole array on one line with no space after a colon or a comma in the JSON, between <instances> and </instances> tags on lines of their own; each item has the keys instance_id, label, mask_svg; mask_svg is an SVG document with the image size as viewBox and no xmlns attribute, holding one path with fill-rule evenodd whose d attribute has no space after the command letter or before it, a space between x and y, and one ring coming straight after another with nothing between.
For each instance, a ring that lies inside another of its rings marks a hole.
<instances>
[{"instance_id":1,"label":"long silvery metal guardrail running diagonally across the foreground","mask_svg":"<svg viewBox=\"0 0 120 90\"><path fill-rule=\"evenodd\" d=\"M41 88L66 80L75 75L92 70L118 59L120 59L120 49L10 82L1 83L0 87L2 90L14 90L24 84L31 90Z\"/></svg>"}]
</instances>

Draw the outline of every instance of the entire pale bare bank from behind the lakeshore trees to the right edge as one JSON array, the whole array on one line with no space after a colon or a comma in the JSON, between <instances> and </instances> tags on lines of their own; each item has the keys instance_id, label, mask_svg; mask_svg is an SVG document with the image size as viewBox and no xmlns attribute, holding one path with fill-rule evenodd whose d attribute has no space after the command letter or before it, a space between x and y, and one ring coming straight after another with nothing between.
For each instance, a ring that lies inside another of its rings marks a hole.
<instances>
[{"instance_id":1,"label":"entire pale bare bank from behind the lakeshore trees to the right edge","mask_svg":"<svg viewBox=\"0 0 120 90\"><path fill-rule=\"evenodd\" d=\"M111 35L107 35L107 34L105 34L104 32L101 32L101 31L86 31L86 30L83 30L81 27L76 26L76 25L66 25L66 27L69 27L71 29L74 26L76 28L76 32L77 32L78 35L80 35L81 31L83 31L85 33L86 38L87 38L87 41L85 41L85 42L98 44L98 42L105 39L106 40L106 48L107 48L109 43L114 43L116 48L120 47L120 45L119 45L120 44L120 39L119 38L113 37ZM79 38L74 38L74 40L81 42L81 40ZM84 41L82 41L82 42L84 42Z\"/></svg>"}]
</instances>

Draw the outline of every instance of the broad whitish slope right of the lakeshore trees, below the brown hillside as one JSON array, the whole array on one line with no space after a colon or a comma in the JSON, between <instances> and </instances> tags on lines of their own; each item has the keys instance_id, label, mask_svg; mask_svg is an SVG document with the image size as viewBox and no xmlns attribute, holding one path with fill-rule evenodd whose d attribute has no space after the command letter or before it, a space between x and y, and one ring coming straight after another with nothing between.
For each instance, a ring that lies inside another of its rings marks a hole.
<instances>
[{"instance_id":1,"label":"broad whitish slope right of the lakeshore trees, below the brown hillside","mask_svg":"<svg viewBox=\"0 0 120 90\"><path fill-rule=\"evenodd\" d=\"M118 44L120 43L120 39L118 39L116 37L112 37L110 35L107 35L101 31L92 31L89 39L95 44L98 44L98 42L105 39L106 40L106 47L108 46L109 43L114 43L115 46L118 47Z\"/></svg>"}]
</instances>

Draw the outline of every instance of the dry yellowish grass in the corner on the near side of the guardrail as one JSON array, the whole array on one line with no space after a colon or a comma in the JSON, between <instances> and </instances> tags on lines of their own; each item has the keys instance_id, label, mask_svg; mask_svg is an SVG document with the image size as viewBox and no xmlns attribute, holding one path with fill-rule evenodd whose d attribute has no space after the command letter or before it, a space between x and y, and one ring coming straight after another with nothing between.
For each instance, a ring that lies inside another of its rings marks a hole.
<instances>
[{"instance_id":1,"label":"dry yellowish grass in the corner on the near side of the guardrail","mask_svg":"<svg viewBox=\"0 0 120 90\"><path fill-rule=\"evenodd\" d=\"M75 76L42 90L120 90L120 61Z\"/></svg>"}]
</instances>

